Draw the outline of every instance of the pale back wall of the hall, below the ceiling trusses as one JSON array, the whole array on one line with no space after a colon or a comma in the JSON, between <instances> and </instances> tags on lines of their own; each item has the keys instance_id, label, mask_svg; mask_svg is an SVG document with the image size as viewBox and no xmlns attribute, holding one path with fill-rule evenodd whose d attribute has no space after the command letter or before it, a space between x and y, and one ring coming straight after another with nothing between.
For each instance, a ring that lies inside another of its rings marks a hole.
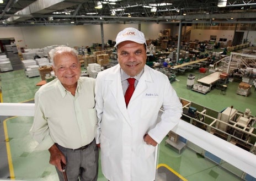
<instances>
[{"instance_id":1,"label":"pale back wall of the hall, below the ceiling trusses","mask_svg":"<svg viewBox=\"0 0 256 181\"><path fill-rule=\"evenodd\" d=\"M127 27L138 28L138 24L104 24L104 43L108 40L115 41L119 31ZM159 32L170 29L170 35L178 35L177 24L141 24L141 31L146 39L158 39ZM184 27L183 27L184 29ZM247 35L248 34L248 35ZM217 40L225 38L233 39L233 30L191 30L190 40L209 40L210 35L216 35ZM244 39L248 39L252 45L256 45L256 31L245 31ZM18 48L43 48L50 45L92 46L93 43L102 43L100 25L79 26L22 26L0 27L0 39L14 38Z\"/></svg>"}]
</instances>

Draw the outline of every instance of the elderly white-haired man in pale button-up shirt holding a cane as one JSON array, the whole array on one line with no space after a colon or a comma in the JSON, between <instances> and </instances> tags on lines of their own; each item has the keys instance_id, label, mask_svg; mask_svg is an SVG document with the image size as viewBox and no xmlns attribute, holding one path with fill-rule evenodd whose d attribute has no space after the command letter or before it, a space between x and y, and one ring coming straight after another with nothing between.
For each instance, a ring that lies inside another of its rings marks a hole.
<instances>
[{"instance_id":1,"label":"elderly white-haired man in pale button-up shirt holding a cane","mask_svg":"<svg viewBox=\"0 0 256 181\"><path fill-rule=\"evenodd\" d=\"M81 77L76 50L60 46L49 52L57 79L35 94L35 117L30 133L40 149L48 149L50 163L69 181L96 181L98 148L95 144L95 79Z\"/></svg>"}]
</instances>

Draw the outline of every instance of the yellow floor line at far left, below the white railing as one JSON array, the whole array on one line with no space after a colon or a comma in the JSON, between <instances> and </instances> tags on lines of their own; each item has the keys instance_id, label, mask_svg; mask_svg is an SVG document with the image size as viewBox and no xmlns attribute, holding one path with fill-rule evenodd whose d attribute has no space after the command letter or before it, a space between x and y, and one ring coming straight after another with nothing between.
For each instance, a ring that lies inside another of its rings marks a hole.
<instances>
[{"instance_id":1,"label":"yellow floor line at far left, below the white railing","mask_svg":"<svg viewBox=\"0 0 256 181\"><path fill-rule=\"evenodd\" d=\"M11 117L11 118L14 118L14 117ZM8 119L11 119L11 118L8 118ZM10 179L11 180L15 180L14 169L13 169L13 161L12 161L12 154L10 153L10 143L9 143L7 124L6 124L6 121L8 119L3 121L3 129L4 129L4 136L6 138L6 151L7 151L7 158L8 158L8 164L9 164Z\"/></svg>"}]
</instances>

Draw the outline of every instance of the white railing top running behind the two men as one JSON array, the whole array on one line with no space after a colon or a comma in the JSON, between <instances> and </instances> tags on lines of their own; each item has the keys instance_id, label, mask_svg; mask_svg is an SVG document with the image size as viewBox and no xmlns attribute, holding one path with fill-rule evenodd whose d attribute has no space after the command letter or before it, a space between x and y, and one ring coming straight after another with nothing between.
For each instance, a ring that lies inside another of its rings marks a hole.
<instances>
[{"instance_id":1,"label":"white railing top running behind the two men","mask_svg":"<svg viewBox=\"0 0 256 181\"><path fill-rule=\"evenodd\" d=\"M162 111L159 111L161 114ZM0 103L0 116L34 116L34 103ZM256 178L256 155L180 120L175 133Z\"/></svg>"}]
</instances>

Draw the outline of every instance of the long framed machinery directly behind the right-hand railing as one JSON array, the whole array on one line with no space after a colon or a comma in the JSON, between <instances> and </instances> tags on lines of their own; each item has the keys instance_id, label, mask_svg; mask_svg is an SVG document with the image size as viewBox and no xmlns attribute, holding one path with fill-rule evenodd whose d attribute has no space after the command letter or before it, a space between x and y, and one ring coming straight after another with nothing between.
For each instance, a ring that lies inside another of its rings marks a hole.
<instances>
[{"instance_id":1,"label":"long framed machinery directly behind the right-hand railing","mask_svg":"<svg viewBox=\"0 0 256 181\"><path fill-rule=\"evenodd\" d=\"M183 120L256 155L256 117L249 108L241 112L231 106L217 112L183 98L180 101Z\"/></svg>"}]
</instances>

